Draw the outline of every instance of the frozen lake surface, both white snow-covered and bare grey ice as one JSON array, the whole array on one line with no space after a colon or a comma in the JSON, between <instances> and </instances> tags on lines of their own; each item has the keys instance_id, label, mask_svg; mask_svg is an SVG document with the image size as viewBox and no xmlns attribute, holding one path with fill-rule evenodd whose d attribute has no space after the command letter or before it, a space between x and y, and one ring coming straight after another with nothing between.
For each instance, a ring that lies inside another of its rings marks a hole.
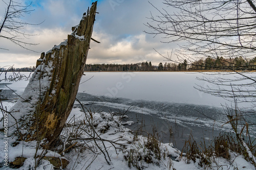
<instances>
[{"instance_id":1,"label":"frozen lake surface, both white snow-covered and bare grey ice","mask_svg":"<svg viewBox=\"0 0 256 170\"><path fill-rule=\"evenodd\" d=\"M145 130L151 131L155 125L160 139L176 143L178 149L182 149L190 133L195 140L202 141L230 130L229 125L224 125L227 118L222 108L230 103L194 88L197 85L212 87L197 77L216 78L220 75L195 72L84 72L84 75L77 99L86 107L105 112L124 113L128 110L125 114L130 118L126 121L135 124L127 127L137 129L144 125ZM0 88L8 89L5 83L0 82ZM19 81L8 84L8 87L22 94L27 83ZM174 133L172 136L169 128ZM251 130L255 131L255 128Z\"/></svg>"}]
</instances>

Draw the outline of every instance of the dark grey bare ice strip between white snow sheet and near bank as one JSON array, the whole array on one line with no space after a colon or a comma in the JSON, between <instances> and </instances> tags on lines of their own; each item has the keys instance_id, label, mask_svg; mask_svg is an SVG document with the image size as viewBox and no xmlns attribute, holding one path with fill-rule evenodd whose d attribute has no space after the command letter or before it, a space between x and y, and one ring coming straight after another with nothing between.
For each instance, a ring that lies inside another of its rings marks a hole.
<instances>
[{"instance_id":1,"label":"dark grey bare ice strip between white snow sheet and near bank","mask_svg":"<svg viewBox=\"0 0 256 170\"><path fill-rule=\"evenodd\" d=\"M130 100L122 98L108 98L87 93L78 93L77 99L88 109L95 112L120 112L133 121L134 124L127 128L137 130L142 127L144 131L158 133L159 140L173 142L174 147L182 150L185 140L190 134L198 143L205 141L211 143L214 136L220 132L230 131L229 125L224 125L226 116L222 108L152 102L143 100ZM172 135L170 135L170 130ZM146 135L146 133L144 133Z\"/></svg>"}]
</instances>

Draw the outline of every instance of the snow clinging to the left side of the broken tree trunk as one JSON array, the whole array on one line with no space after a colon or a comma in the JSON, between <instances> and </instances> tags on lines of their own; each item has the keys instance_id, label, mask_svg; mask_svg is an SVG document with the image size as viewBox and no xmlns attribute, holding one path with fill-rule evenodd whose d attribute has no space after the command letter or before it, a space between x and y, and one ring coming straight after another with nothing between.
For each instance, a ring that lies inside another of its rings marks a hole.
<instances>
[{"instance_id":1,"label":"snow clinging to the left side of the broken tree trunk","mask_svg":"<svg viewBox=\"0 0 256 170\"><path fill-rule=\"evenodd\" d=\"M48 63L48 65L42 63L35 69L27 87L24 90L24 93L20 96L17 103L15 103L15 105L9 110L10 112L12 112L12 116L8 116L8 126L10 127L8 131L9 134L17 133L16 126L23 127L23 125L31 124L31 122L29 122L30 117L33 116L33 114L31 113L35 111L35 107L37 106L40 98L44 98L44 93L48 90L48 87L50 86L52 79L52 69L53 68L51 63ZM44 78L42 79L40 77ZM19 82L15 82L13 83L13 85L19 87ZM10 88L11 87L12 85L10 86ZM22 90L20 90L19 92L21 91ZM22 119L24 121L19 122ZM15 125L16 121L19 122L18 125ZM1 124L0 126L1 128L3 128L3 124ZM27 133L27 130L23 129L20 133L25 134Z\"/></svg>"}]
</instances>

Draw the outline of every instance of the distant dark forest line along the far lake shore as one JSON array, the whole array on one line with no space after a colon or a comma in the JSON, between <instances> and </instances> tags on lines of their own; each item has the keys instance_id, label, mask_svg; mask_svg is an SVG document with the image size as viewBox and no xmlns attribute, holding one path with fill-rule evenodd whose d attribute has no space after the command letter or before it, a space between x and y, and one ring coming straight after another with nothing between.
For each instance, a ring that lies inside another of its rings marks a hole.
<instances>
[{"instance_id":1,"label":"distant dark forest line along the far lake shore","mask_svg":"<svg viewBox=\"0 0 256 170\"><path fill-rule=\"evenodd\" d=\"M158 66L152 65L150 62L142 62L137 64L86 64L84 71L185 71L185 70L228 70L228 69L256 69L256 57L245 59L243 57L228 58L223 57L207 57L205 59L190 61L188 64L185 59L183 62L165 62L159 63ZM0 71L34 71L35 66L23 68L1 68Z\"/></svg>"}]
</instances>

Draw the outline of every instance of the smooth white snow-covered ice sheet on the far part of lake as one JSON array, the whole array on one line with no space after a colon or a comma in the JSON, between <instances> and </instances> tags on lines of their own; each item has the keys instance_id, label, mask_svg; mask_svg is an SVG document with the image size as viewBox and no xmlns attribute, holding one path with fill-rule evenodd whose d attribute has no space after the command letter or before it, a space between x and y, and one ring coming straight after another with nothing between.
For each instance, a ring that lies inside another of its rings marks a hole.
<instances>
[{"instance_id":1,"label":"smooth white snow-covered ice sheet on the far part of lake","mask_svg":"<svg viewBox=\"0 0 256 170\"><path fill-rule=\"evenodd\" d=\"M79 92L158 102L186 103L221 107L226 100L194 88L210 83L199 81L200 73L186 72L85 72ZM207 75L206 75L207 76ZM210 75L208 77L217 77Z\"/></svg>"}]
</instances>

